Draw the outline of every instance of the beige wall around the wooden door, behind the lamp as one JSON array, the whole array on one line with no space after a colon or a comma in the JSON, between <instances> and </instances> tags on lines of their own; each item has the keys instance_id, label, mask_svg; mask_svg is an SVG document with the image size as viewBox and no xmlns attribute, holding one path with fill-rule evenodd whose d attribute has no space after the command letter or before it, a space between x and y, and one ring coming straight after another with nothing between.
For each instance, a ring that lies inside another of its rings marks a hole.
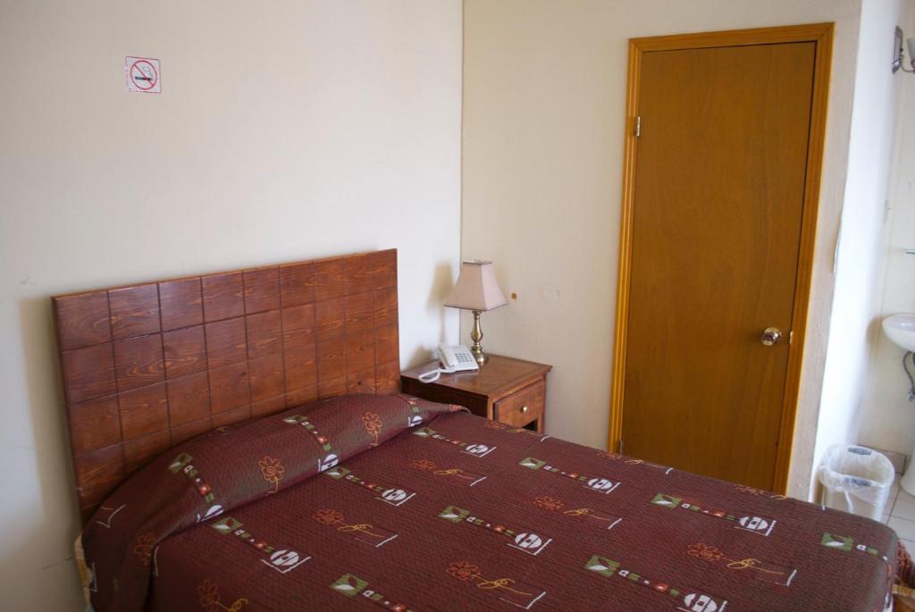
<instances>
[{"instance_id":1,"label":"beige wall around the wooden door, behind the lamp","mask_svg":"<svg viewBox=\"0 0 915 612\"><path fill-rule=\"evenodd\" d=\"M791 494L807 497L859 10L858 0L465 1L462 256L492 259L506 292L519 295L483 316L484 346L554 364L546 414L551 434L606 445L627 39L834 21L813 298L790 478ZM466 338L467 319L463 323Z\"/></svg>"}]
</instances>

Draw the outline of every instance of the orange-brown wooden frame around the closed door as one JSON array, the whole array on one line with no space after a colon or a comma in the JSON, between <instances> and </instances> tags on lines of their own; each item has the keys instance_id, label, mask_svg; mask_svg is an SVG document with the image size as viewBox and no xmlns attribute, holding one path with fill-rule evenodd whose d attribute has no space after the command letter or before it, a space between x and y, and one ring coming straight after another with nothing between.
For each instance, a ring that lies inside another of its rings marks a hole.
<instances>
[{"instance_id":1,"label":"orange-brown wooden frame around the closed door","mask_svg":"<svg viewBox=\"0 0 915 612\"><path fill-rule=\"evenodd\" d=\"M688 48L738 47L790 42L813 42L813 97L810 134L807 144L807 170L804 178L801 242L798 270L791 311L788 366L785 392L781 404L779 447L775 459L773 489L784 494L791 468L791 445L801 382L807 306L813 274L813 254L817 208L820 199L820 177L823 173L823 141L826 129L826 106L829 93L829 71L833 55L832 23L802 26L760 27L754 29L679 34L673 36L630 38L629 76L626 85L626 128L623 155L622 212L619 222L619 266L617 275L616 329L613 338L613 369L610 387L610 426L608 449L619 450L622 435L624 382L626 378L626 342L629 333L630 274L632 264L632 219L635 206L635 177L638 162L636 115L639 109L639 82L642 55L649 51Z\"/></svg>"}]
</instances>

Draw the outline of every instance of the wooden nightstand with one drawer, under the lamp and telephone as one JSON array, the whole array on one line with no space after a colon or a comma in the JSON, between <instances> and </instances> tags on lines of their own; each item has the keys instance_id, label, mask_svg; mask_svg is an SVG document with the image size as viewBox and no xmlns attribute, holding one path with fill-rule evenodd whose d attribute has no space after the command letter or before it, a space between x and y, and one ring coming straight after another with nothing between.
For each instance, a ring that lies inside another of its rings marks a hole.
<instances>
[{"instance_id":1,"label":"wooden nightstand with one drawer, under the lamp and telephone","mask_svg":"<svg viewBox=\"0 0 915 612\"><path fill-rule=\"evenodd\" d=\"M471 413L515 427L544 431L546 373L553 366L490 355L479 371L442 374L426 384L419 375L437 361L401 372L404 393L441 403L467 406Z\"/></svg>"}]
</instances>

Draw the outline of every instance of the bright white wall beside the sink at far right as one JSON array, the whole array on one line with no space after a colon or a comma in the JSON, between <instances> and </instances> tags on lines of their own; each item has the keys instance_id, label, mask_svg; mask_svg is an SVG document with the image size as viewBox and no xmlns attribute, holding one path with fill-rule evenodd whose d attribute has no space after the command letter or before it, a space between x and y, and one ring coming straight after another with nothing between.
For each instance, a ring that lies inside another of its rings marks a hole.
<instances>
[{"instance_id":1,"label":"bright white wall beside the sink at far right","mask_svg":"<svg viewBox=\"0 0 915 612\"><path fill-rule=\"evenodd\" d=\"M878 314L884 277L884 221L899 93L903 81L911 79L901 71L893 74L890 70L893 29L906 25L904 13L909 12L911 4L910 0L864 0L861 5L845 209L814 464L819 463L819 457L831 444L868 444L893 450L891 446L895 445L887 446L886 438L878 432L905 432L906 428L900 425L913 424L911 417L867 411L862 404L868 386L868 363L882 336ZM895 280L893 286L897 286ZM882 354L892 352L885 348ZM904 376L898 362L896 366L887 370L871 368L871 389L877 375L884 371ZM905 396L901 385L886 386L897 391L898 396ZM891 439L895 442L899 435ZM899 450L910 452L910 448ZM813 483L812 489L816 488Z\"/></svg>"}]
</instances>

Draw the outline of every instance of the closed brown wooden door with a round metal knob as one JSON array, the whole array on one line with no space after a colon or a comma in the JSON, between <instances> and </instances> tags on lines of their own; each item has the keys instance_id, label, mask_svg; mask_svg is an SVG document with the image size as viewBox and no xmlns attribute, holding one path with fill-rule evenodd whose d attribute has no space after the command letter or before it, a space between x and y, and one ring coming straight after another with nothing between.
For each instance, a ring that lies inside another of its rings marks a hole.
<instances>
[{"instance_id":1,"label":"closed brown wooden door with a round metal knob","mask_svg":"<svg viewBox=\"0 0 915 612\"><path fill-rule=\"evenodd\" d=\"M816 68L816 41L640 58L621 355L618 334L628 456L783 483Z\"/></svg>"}]
</instances>

